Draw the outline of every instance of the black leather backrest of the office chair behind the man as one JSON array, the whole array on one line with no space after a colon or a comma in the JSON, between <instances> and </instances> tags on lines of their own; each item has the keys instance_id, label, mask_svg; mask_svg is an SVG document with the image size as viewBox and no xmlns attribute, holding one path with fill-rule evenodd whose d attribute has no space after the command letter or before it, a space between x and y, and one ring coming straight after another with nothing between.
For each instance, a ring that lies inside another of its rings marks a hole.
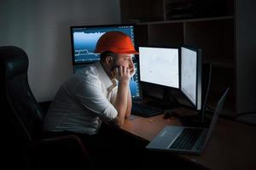
<instances>
[{"instance_id":1,"label":"black leather backrest of the office chair behind the man","mask_svg":"<svg viewBox=\"0 0 256 170\"><path fill-rule=\"evenodd\" d=\"M32 142L41 133L44 113L28 83L26 52L15 46L0 47L0 68L7 126L13 126L23 141Z\"/></svg>"}]
</instances>

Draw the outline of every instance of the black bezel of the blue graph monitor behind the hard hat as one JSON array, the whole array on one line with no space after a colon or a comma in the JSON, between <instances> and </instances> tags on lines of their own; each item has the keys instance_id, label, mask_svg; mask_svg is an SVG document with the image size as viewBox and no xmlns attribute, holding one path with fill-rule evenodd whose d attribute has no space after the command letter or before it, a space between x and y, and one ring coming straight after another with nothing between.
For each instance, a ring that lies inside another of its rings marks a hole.
<instances>
[{"instance_id":1,"label":"black bezel of the blue graph monitor behind the hard hat","mask_svg":"<svg viewBox=\"0 0 256 170\"><path fill-rule=\"evenodd\" d=\"M135 24L113 24L113 25L88 25L88 26L69 26L69 34L70 34L70 42L71 42L71 55L72 55L72 64L73 65L85 65L85 64L91 64L94 63L95 61L89 61L89 62L84 62L84 63L75 63L75 56L74 56L74 43L73 43L73 29L76 28L93 28L93 27L99 27L99 28L104 28L104 27L117 27L117 26L133 26L133 34L135 34L136 30L136 25ZM134 41L134 47L136 48L136 37L133 37Z\"/></svg>"}]
</instances>

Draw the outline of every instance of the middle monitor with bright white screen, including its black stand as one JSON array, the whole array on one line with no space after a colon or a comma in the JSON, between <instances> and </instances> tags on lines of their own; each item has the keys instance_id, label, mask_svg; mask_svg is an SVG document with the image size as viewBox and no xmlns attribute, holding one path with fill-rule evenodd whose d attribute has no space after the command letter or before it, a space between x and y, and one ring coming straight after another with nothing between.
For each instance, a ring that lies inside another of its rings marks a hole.
<instances>
[{"instance_id":1,"label":"middle monitor with bright white screen, including its black stand","mask_svg":"<svg viewBox=\"0 0 256 170\"><path fill-rule=\"evenodd\" d=\"M178 105L174 96L180 84L178 51L178 48L139 47L143 95L153 99L147 105L161 109L171 109Z\"/></svg>"}]
</instances>

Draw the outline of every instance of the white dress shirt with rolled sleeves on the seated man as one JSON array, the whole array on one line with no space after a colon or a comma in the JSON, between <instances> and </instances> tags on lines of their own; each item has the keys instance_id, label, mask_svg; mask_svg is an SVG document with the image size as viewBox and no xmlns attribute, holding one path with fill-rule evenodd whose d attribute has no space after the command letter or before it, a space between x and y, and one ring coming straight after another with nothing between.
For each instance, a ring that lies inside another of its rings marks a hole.
<instances>
[{"instance_id":1,"label":"white dress shirt with rolled sleeves on the seated man","mask_svg":"<svg viewBox=\"0 0 256 170\"><path fill-rule=\"evenodd\" d=\"M44 120L44 131L95 134L101 122L118 114L113 107L117 82L109 79L98 61L64 82Z\"/></svg>"}]
</instances>

